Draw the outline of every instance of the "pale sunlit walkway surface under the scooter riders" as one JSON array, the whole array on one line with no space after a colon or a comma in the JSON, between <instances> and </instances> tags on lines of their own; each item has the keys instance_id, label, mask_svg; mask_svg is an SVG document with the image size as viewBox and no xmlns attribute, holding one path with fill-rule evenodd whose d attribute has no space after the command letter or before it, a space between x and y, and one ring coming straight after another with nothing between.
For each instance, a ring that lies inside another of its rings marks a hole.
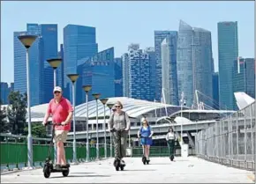
<instances>
[{"instance_id":1,"label":"pale sunlit walkway surface under the scooter riders","mask_svg":"<svg viewBox=\"0 0 256 184\"><path fill-rule=\"evenodd\" d=\"M151 158L143 165L141 158L125 158L124 171L116 171L113 158L71 166L71 173L51 173L45 179L42 169L1 175L1 183L253 183L252 172L207 162L200 158Z\"/></svg>"}]
</instances>

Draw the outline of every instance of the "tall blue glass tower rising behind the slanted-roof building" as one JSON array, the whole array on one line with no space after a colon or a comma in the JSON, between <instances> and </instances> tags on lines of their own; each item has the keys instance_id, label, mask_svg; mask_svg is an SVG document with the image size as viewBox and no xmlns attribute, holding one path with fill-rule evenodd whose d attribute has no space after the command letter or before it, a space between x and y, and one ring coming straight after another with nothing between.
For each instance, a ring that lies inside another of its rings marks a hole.
<instances>
[{"instance_id":1,"label":"tall blue glass tower rising behind the slanted-roof building","mask_svg":"<svg viewBox=\"0 0 256 184\"><path fill-rule=\"evenodd\" d=\"M78 62L81 59L92 57L98 53L96 43L96 29L90 26L68 25L64 27L64 88L68 89L71 81L67 74L77 72ZM79 81L78 81L79 82ZM78 85L77 92L81 91ZM67 90L72 99L72 90ZM77 96L77 99L79 96Z\"/></svg>"}]
</instances>

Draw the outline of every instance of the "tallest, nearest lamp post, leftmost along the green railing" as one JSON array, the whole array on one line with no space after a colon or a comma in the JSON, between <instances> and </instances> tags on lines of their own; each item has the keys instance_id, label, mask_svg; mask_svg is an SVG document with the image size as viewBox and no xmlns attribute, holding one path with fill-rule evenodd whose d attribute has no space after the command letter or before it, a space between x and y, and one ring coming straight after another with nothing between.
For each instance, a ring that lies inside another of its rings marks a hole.
<instances>
[{"instance_id":1,"label":"tallest, nearest lamp post, leftmost along the green railing","mask_svg":"<svg viewBox=\"0 0 256 184\"><path fill-rule=\"evenodd\" d=\"M30 110L30 77L29 77L29 58L28 49L33 45L34 40L37 38L35 35L20 35L19 41L26 48L26 103L27 103L27 118L28 118L28 134L27 134L27 165L29 168L33 167L33 137L31 134L31 110Z\"/></svg>"}]
</instances>

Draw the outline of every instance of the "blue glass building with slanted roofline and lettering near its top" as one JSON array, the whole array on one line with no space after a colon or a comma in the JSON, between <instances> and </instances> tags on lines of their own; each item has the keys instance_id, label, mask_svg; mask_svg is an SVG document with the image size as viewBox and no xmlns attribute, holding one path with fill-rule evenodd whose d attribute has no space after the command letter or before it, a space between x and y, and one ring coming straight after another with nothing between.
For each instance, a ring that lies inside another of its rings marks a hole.
<instances>
[{"instance_id":1,"label":"blue glass building with slanted roofline and lettering near its top","mask_svg":"<svg viewBox=\"0 0 256 184\"><path fill-rule=\"evenodd\" d=\"M94 99L93 93L101 93L101 99L115 96L114 48L103 50L93 57L81 59L79 63L77 105L85 101L82 85L92 85L88 100Z\"/></svg>"}]
</instances>

